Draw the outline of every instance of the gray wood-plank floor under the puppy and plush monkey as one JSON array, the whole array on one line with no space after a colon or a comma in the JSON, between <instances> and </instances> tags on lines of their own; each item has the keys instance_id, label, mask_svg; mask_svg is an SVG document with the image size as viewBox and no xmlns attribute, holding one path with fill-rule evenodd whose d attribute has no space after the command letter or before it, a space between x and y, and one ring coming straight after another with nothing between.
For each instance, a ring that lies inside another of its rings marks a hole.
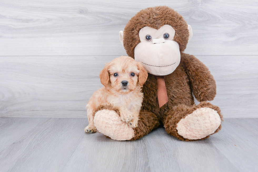
<instances>
[{"instance_id":1,"label":"gray wood-plank floor under the puppy and plush monkey","mask_svg":"<svg viewBox=\"0 0 258 172\"><path fill-rule=\"evenodd\" d=\"M225 119L209 139L157 128L136 141L87 134L85 118L0 118L0 171L257 171L258 119Z\"/></svg>"}]
</instances>

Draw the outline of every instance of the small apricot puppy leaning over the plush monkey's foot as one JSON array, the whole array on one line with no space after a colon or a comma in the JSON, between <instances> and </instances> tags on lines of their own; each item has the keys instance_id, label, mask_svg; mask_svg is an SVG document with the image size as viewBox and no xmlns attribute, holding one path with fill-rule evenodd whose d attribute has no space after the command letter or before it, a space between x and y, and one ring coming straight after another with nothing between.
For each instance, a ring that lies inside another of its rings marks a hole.
<instances>
[{"instance_id":1,"label":"small apricot puppy leaning over the plush monkey's foot","mask_svg":"<svg viewBox=\"0 0 258 172\"><path fill-rule=\"evenodd\" d=\"M93 93L86 106L89 125L85 132L97 131L93 119L95 112L101 109L115 110L122 121L132 128L137 127L143 100L141 90L147 77L142 64L131 57L121 56L107 63L100 72L104 87Z\"/></svg>"}]
</instances>

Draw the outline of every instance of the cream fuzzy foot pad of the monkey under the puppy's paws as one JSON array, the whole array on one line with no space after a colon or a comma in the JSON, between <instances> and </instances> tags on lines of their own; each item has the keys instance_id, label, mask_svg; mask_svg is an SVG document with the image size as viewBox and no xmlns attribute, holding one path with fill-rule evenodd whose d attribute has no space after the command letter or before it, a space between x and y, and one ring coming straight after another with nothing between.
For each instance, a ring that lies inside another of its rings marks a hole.
<instances>
[{"instance_id":1,"label":"cream fuzzy foot pad of the monkey under the puppy's paws","mask_svg":"<svg viewBox=\"0 0 258 172\"><path fill-rule=\"evenodd\" d=\"M97 130L114 140L130 140L134 137L134 130L121 117L111 110L100 110L95 113L93 120Z\"/></svg>"}]
</instances>

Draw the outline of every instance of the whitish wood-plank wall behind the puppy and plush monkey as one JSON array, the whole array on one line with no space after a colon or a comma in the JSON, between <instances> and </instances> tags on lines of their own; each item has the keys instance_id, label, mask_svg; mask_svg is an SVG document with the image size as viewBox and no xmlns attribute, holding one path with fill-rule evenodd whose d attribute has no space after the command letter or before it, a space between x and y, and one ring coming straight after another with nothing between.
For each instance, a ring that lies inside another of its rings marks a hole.
<instances>
[{"instance_id":1,"label":"whitish wood-plank wall behind the puppy and plush monkey","mask_svg":"<svg viewBox=\"0 0 258 172\"><path fill-rule=\"evenodd\" d=\"M157 5L192 26L185 52L211 70L224 117L258 117L257 0L1 0L0 117L85 118L105 62L126 55L118 32Z\"/></svg>"}]
</instances>

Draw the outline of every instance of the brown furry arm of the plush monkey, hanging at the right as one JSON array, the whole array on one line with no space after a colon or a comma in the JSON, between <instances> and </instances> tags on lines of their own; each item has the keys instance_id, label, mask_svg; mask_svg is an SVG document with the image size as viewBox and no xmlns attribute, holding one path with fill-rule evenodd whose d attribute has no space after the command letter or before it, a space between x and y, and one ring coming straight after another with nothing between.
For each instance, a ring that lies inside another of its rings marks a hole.
<instances>
[{"instance_id":1,"label":"brown furry arm of the plush monkey, hanging at the right","mask_svg":"<svg viewBox=\"0 0 258 172\"><path fill-rule=\"evenodd\" d=\"M181 62L189 77L193 95L201 101L212 101L216 96L216 82L208 67L193 55L181 54Z\"/></svg>"}]
</instances>

